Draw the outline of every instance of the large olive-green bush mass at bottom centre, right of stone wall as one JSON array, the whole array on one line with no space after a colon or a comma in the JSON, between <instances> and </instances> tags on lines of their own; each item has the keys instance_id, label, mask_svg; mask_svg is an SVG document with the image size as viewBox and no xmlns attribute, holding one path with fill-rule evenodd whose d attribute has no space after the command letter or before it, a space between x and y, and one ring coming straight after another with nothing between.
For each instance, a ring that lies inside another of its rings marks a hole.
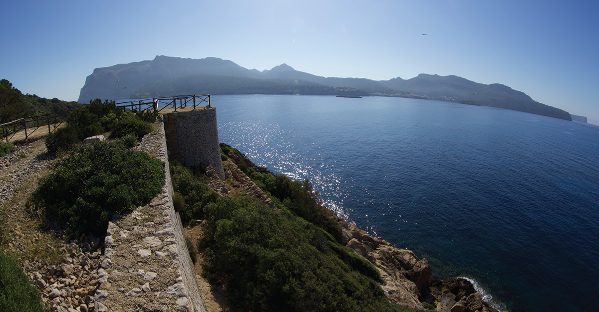
<instances>
[{"instance_id":1,"label":"large olive-green bush mass at bottom centre, right of stone wall","mask_svg":"<svg viewBox=\"0 0 599 312\"><path fill-rule=\"evenodd\" d=\"M240 310L401 310L337 257L329 235L293 214L242 197L219 198L205 217L206 275Z\"/></svg>"}]
</instances>

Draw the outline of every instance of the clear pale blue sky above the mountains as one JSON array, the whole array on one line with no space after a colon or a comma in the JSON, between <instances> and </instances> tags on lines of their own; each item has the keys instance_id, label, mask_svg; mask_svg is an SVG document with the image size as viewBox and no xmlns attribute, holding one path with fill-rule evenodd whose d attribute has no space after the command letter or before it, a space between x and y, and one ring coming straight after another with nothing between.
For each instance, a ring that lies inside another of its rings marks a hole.
<instances>
[{"instance_id":1,"label":"clear pale blue sky above the mountains","mask_svg":"<svg viewBox=\"0 0 599 312\"><path fill-rule=\"evenodd\" d=\"M0 78L74 101L96 67L214 56L325 77L458 75L599 123L597 16L597 1L5 1Z\"/></svg>"}]
</instances>

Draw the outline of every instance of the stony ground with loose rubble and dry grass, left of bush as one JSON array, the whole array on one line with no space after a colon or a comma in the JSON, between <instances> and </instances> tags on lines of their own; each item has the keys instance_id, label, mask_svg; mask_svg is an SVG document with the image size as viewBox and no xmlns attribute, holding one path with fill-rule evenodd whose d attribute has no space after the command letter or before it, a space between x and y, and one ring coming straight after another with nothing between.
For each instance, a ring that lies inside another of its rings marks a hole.
<instances>
[{"instance_id":1,"label":"stony ground with loose rubble and dry grass, left of bush","mask_svg":"<svg viewBox=\"0 0 599 312\"><path fill-rule=\"evenodd\" d=\"M47 172L54 157L43 140L17 146L0 158L0 205L7 231L7 250L18 256L26 274L40 288L42 301L52 311L93 311L98 287L101 238L83 236L68 240L56 223L40 223L26 209L26 199Z\"/></svg>"}]
</instances>

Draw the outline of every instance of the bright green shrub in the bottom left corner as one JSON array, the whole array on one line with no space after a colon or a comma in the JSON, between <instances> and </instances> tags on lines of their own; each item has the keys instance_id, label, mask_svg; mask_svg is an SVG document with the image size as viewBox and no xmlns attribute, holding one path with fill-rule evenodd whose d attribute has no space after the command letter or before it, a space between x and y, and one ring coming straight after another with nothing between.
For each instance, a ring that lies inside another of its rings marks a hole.
<instances>
[{"instance_id":1,"label":"bright green shrub in the bottom left corner","mask_svg":"<svg viewBox=\"0 0 599 312\"><path fill-rule=\"evenodd\" d=\"M50 311L17 261L0 249L0 311Z\"/></svg>"}]
</instances>

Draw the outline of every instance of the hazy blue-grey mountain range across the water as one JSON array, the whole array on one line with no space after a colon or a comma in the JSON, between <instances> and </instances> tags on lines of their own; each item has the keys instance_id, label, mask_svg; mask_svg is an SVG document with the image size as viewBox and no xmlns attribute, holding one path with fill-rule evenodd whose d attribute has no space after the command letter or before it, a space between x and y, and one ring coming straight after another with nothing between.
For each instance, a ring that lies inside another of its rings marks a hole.
<instances>
[{"instance_id":1,"label":"hazy blue-grey mountain range across the water","mask_svg":"<svg viewBox=\"0 0 599 312\"><path fill-rule=\"evenodd\" d=\"M184 94L377 95L437 99L507 108L572 120L567 111L534 101L503 84L482 84L455 75L420 74L404 80L320 77L282 64L258 71L217 57L183 59L156 56L96 68L87 76L78 102L90 99L137 99Z\"/></svg>"}]
</instances>

